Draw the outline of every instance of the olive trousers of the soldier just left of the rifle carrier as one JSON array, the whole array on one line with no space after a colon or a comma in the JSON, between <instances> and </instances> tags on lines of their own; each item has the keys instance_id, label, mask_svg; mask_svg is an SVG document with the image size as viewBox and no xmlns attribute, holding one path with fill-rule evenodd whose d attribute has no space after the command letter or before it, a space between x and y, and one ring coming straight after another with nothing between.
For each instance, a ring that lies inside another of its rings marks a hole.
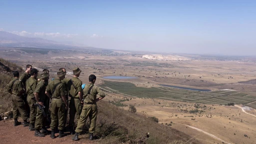
<instances>
[{"instance_id":1,"label":"olive trousers of the soldier just left of the rifle carrier","mask_svg":"<svg viewBox=\"0 0 256 144\"><path fill-rule=\"evenodd\" d=\"M28 102L28 105L29 105L29 109L30 109L30 115L29 115L29 121L31 124L35 124L35 121L36 121L36 109L37 107L36 106L33 106L33 104L36 103L36 100L33 99L35 96L27 96L27 102Z\"/></svg>"}]
</instances>

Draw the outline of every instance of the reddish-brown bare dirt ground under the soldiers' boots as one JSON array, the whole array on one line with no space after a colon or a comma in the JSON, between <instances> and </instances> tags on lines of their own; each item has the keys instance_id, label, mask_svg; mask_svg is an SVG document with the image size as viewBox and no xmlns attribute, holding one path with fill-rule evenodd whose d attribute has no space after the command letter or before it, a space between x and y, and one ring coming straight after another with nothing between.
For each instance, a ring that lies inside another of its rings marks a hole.
<instances>
[{"instance_id":1,"label":"reddish-brown bare dirt ground under the soldiers' boots","mask_svg":"<svg viewBox=\"0 0 256 144\"><path fill-rule=\"evenodd\" d=\"M21 120L19 120L21 121ZM79 136L79 141L71 140L72 135L63 138L56 137L51 139L49 135L45 137L35 137L35 132L30 132L28 127L23 125L13 126L13 119L0 121L0 143L18 143L18 144L32 144L32 143L96 143L97 140L88 140L88 134ZM50 130L50 129L48 129ZM58 134L55 134L58 136Z\"/></svg>"}]
</instances>

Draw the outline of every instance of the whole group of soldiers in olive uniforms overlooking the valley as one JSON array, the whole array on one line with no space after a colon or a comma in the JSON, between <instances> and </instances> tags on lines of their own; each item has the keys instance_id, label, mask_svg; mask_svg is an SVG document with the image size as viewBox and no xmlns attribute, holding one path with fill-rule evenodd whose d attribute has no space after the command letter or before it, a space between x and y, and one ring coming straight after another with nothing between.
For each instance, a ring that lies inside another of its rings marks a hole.
<instances>
[{"instance_id":1,"label":"whole group of soldiers in olive uniforms overlooking the valley","mask_svg":"<svg viewBox=\"0 0 256 144\"><path fill-rule=\"evenodd\" d=\"M66 69L60 68L57 77L52 78L49 83L49 70L44 69L40 77L38 72L31 65L27 65L25 73L21 76L18 71L14 71L14 78L7 85L7 91L12 94L14 126L20 124L18 122L20 113L23 126L28 126L29 131L35 131L34 136L45 137L50 134L50 138L53 139L58 129L58 137L61 138L66 136L64 129L68 108L70 108L68 129L74 135L72 140L78 140L78 135L82 132L88 117L90 119L89 139L92 140L98 113L96 102L105 97L104 92L94 85L96 76L91 74L89 83L82 88L82 81L78 78L81 70L78 67L73 69L71 79L65 77ZM100 97L96 98L97 95ZM46 113L49 107L51 130L46 128ZM78 124L74 130L76 113Z\"/></svg>"}]
</instances>

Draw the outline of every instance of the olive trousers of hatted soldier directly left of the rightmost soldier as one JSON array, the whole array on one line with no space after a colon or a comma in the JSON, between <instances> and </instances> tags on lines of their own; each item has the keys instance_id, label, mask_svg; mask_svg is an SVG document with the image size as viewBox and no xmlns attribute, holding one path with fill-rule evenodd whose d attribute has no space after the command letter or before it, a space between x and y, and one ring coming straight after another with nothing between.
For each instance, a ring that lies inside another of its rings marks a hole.
<instances>
[{"instance_id":1,"label":"olive trousers of hatted soldier directly left of the rightmost soldier","mask_svg":"<svg viewBox=\"0 0 256 144\"><path fill-rule=\"evenodd\" d=\"M71 98L69 102L69 125L74 124L75 115L77 113L77 122L82 112L81 101L79 98Z\"/></svg>"}]
</instances>

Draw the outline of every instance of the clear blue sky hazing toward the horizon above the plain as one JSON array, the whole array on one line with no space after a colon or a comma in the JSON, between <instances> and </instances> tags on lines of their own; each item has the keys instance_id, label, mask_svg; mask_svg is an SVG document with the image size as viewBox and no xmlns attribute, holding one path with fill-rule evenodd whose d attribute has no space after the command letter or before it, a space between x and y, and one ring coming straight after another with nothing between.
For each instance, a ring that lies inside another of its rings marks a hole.
<instances>
[{"instance_id":1,"label":"clear blue sky hazing toward the horizon above the plain","mask_svg":"<svg viewBox=\"0 0 256 144\"><path fill-rule=\"evenodd\" d=\"M2 1L0 29L88 46L255 55L256 1Z\"/></svg>"}]
</instances>

